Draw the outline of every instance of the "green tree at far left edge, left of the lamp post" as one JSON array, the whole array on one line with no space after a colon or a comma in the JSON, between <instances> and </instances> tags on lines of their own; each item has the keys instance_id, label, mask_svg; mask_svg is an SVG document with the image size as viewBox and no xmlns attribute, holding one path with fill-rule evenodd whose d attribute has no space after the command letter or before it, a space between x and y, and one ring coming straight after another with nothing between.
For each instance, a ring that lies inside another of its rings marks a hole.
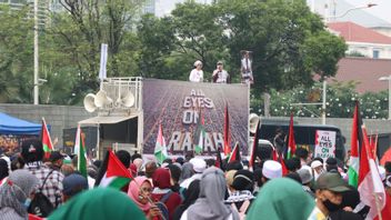
<instances>
[{"instance_id":1,"label":"green tree at far left edge, left of the lamp post","mask_svg":"<svg viewBox=\"0 0 391 220\"><path fill-rule=\"evenodd\" d=\"M32 98L32 22L29 8L0 6L0 102Z\"/></svg>"}]
</instances>

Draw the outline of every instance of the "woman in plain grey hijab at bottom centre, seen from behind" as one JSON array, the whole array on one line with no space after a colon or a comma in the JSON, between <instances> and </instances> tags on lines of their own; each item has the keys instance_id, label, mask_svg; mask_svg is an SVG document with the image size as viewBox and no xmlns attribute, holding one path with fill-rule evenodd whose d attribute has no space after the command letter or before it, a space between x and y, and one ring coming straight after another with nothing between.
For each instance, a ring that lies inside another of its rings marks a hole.
<instances>
[{"instance_id":1,"label":"woman in plain grey hijab at bottom centre, seen from behind","mask_svg":"<svg viewBox=\"0 0 391 220\"><path fill-rule=\"evenodd\" d=\"M200 197L183 212L181 220L238 220L238 212L224 204L225 190L224 173L218 168L208 168L202 173Z\"/></svg>"}]
</instances>

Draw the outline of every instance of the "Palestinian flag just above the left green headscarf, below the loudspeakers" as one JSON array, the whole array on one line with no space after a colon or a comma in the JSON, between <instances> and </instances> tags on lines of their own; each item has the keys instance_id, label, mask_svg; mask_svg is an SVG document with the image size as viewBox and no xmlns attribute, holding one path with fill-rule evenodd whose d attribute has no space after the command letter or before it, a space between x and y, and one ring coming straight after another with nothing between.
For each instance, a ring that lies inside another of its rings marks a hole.
<instances>
[{"instance_id":1,"label":"Palestinian flag just above the left green headscarf, below the loudspeakers","mask_svg":"<svg viewBox=\"0 0 391 220\"><path fill-rule=\"evenodd\" d=\"M99 169L96 187L111 187L120 190L133 179L130 171L127 170L116 154L108 150Z\"/></svg>"}]
</instances>

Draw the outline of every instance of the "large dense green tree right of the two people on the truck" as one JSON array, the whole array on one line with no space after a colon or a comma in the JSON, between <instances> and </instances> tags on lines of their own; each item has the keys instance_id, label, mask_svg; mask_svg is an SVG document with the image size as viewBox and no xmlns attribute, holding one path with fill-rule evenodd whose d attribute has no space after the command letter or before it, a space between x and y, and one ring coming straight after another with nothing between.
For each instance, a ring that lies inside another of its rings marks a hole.
<instances>
[{"instance_id":1,"label":"large dense green tree right of the two people on the truck","mask_svg":"<svg viewBox=\"0 0 391 220\"><path fill-rule=\"evenodd\" d=\"M230 31L232 62L240 59L241 50L253 52L257 92L311 86L314 73L335 74L345 46L324 30L305 1L221 0L219 4Z\"/></svg>"}]
</instances>

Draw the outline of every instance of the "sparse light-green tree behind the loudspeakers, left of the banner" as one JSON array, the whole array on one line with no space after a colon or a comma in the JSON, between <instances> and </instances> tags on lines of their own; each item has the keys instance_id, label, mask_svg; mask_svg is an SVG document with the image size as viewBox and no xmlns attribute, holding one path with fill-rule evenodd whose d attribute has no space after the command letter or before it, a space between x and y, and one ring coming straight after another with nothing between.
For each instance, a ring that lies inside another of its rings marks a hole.
<instances>
[{"instance_id":1,"label":"sparse light-green tree behind the loudspeakers, left of the banner","mask_svg":"<svg viewBox=\"0 0 391 220\"><path fill-rule=\"evenodd\" d=\"M80 74L79 90L96 90L100 46L108 43L108 77L136 76L138 41L132 33L142 1L61 1L67 13L53 14L52 34L61 37ZM84 89L82 89L84 88Z\"/></svg>"}]
</instances>

